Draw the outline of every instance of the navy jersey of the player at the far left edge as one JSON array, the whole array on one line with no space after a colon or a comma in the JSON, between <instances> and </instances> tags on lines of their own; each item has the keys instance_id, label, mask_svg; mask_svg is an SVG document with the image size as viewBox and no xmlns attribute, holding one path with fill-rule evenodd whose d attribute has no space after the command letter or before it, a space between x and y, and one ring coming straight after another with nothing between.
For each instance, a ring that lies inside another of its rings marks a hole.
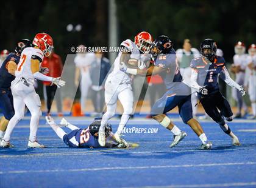
<instances>
[{"instance_id":1,"label":"navy jersey of the player at the far left edge","mask_svg":"<svg viewBox=\"0 0 256 188\"><path fill-rule=\"evenodd\" d=\"M11 75L7 70L9 61L14 61L18 65L20 56L15 53L10 53L2 63L0 68L0 88L9 88L11 86L11 82L15 79L15 76Z\"/></svg>"}]
</instances>

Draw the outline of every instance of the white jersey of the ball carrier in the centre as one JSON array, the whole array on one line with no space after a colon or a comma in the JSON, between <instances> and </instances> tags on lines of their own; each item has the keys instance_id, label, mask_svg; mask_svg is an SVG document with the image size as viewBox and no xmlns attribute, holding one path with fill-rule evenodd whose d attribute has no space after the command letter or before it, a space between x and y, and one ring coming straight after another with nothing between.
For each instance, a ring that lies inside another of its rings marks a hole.
<instances>
[{"instance_id":1,"label":"white jersey of the ball carrier in the centre","mask_svg":"<svg viewBox=\"0 0 256 188\"><path fill-rule=\"evenodd\" d=\"M141 60L140 50L138 49L137 45L134 42L132 42L130 39L127 39L126 41L123 41L121 45L123 45L124 47L130 50L130 52L132 53L130 55L131 59ZM122 55L122 52L119 52L114 62L114 69L112 73L108 75L108 79L112 79L112 81L115 81L118 84L130 83L131 81L130 75L122 72L119 69L121 55Z\"/></svg>"}]
</instances>

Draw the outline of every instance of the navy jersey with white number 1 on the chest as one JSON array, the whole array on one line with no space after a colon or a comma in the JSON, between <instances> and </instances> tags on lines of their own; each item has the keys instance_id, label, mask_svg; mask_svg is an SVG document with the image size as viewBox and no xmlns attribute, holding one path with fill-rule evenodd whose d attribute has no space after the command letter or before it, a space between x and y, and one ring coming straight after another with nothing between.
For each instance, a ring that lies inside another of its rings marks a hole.
<instances>
[{"instance_id":1,"label":"navy jersey with white number 1 on the chest","mask_svg":"<svg viewBox=\"0 0 256 188\"><path fill-rule=\"evenodd\" d=\"M216 56L215 61L210 63L202 56L191 61L190 67L198 73L197 83L199 86L207 85L208 94L219 92L218 76L225 66L225 59Z\"/></svg>"}]
</instances>

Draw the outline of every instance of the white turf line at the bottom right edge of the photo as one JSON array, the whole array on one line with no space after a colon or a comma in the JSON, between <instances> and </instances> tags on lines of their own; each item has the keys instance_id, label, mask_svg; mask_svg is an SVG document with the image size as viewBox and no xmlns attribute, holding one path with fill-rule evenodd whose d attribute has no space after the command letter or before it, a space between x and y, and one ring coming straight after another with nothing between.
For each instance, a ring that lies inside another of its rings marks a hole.
<instances>
[{"instance_id":1,"label":"white turf line at the bottom right edge of the photo","mask_svg":"<svg viewBox=\"0 0 256 188\"><path fill-rule=\"evenodd\" d=\"M218 183L218 184L193 184L193 185L169 185L169 186L143 186L140 188L155 188L155 187L161 187L161 188L193 188L193 187L231 187L231 186L255 186L256 182L236 182L236 183ZM134 186L133 186L134 187Z\"/></svg>"}]
</instances>

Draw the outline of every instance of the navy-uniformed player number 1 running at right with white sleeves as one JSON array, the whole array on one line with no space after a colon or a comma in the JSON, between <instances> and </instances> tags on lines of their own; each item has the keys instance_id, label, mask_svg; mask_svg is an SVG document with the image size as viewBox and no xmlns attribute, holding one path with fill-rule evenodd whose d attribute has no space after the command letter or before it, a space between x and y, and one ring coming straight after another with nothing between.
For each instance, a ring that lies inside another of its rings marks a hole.
<instances>
[{"instance_id":1,"label":"navy-uniformed player number 1 running at right with white sleeves","mask_svg":"<svg viewBox=\"0 0 256 188\"><path fill-rule=\"evenodd\" d=\"M230 78L225 67L225 60L216 55L216 49L216 42L213 39L205 39L201 43L201 57L191 61L190 66L193 70L190 85L196 89L205 112L232 138L234 146L240 146L239 139L224 120L225 117L227 121L232 121L233 113L229 102L219 92L218 76L220 75L220 78L229 86L239 90L243 96L245 92L242 86Z\"/></svg>"}]
</instances>

